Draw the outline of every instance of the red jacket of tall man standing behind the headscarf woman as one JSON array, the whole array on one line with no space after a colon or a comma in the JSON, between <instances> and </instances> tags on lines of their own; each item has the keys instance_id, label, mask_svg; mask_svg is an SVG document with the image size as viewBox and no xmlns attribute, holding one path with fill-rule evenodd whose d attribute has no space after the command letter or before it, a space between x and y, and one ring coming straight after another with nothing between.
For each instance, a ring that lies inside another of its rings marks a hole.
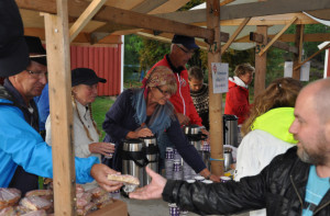
<instances>
[{"instance_id":1,"label":"red jacket of tall man standing behind the headscarf woman","mask_svg":"<svg viewBox=\"0 0 330 216\"><path fill-rule=\"evenodd\" d=\"M190 118L190 124L201 126L201 118L199 117L196 107L194 106L193 99L190 96L188 71L186 68L182 68L182 70L178 68L174 68L174 66L168 60L169 58L167 57L167 55L165 55L165 57L158 62L156 62L152 67L152 69L156 66L166 66L175 72L177 91L174 95L170 96L169 101L173 103L176 112L183 113ZM152 69L150 69L147 73L151 72Z\"/></svg>"}]
</instances>

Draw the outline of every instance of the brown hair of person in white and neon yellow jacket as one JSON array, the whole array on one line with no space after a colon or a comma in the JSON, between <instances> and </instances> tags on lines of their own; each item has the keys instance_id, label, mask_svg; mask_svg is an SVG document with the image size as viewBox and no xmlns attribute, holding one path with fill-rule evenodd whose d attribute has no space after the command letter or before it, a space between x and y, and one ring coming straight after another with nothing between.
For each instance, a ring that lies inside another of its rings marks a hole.
<instances>
[{"instance_id":1,"label":"brown hair of person in white and neon yellow jacket","mask_svg":"<svg viewBox=\"0 0 330 216\"><path fill-rule=\"evenodd\" d=\"M295 107L302 84L293 78L279 78L254 99L250 117L243 123L241 133L245 136L256 117L276 107Z\"/></svg>"}]
</instances>

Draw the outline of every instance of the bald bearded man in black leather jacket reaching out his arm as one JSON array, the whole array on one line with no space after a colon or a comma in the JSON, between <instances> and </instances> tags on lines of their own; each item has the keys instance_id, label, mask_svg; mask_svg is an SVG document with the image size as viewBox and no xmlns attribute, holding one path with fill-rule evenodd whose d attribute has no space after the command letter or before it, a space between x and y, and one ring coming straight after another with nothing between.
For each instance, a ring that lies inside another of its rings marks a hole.
<instances>
[{"instance_id":1,"label":"bald bearded man in black leather jacket reaching out his arm","mask_svg":"<svg viewBox=\"0 0 330 216\"><path fill-rule=\"evenodd\" d=\"M330 215L330 79L308 84L296 102L289 128L297 147L279 155L257 175L240 182L189 184L147 170L150 185L132 198L158 198L200 215L266 208L267 215ZM316 190L317 189L317 190ZM316 195L317 197L312 197Z\"/></svg>"}]
</instances>

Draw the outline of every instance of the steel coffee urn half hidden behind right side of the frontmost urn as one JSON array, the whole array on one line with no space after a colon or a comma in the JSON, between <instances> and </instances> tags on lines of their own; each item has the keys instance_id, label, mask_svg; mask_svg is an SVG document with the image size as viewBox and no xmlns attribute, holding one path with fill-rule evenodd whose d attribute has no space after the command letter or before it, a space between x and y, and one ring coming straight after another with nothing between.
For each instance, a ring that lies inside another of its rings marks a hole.
<instances>
[{"instance_id":1,"label":"steel coffee urn half hidden behind right side of the frontmost urn","mask_svg":"<svg viewBox=\"0 0 330 216\"><path fill-rule=\"evenodd\" d=\"M156 137L155 136L143 137L140 139L142 139L145 145L145 157L147 159L146 166L153 171L158 173L160 150L158 150ZM144 172L143 185L147 185L150 183L151 183L151 177L148 177L148 174Z\"/></svg>"}]
</instances>

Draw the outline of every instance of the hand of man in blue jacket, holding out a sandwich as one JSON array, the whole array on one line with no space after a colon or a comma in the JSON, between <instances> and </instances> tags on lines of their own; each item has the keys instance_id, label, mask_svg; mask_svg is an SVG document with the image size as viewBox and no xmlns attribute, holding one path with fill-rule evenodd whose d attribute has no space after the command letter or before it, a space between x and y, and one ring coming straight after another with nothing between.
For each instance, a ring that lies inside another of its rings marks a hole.
<instances>
[{"instance_id":1,"label":"hand of man in blue jacket, holding out a sandwich","mask_svg":"<svg viewBox=\"0 0 330 216\"><path fill-rule=\"evenodd\" d=\"M120 172L117 172L102 163L94 164L90 169L90 175L102 189L108 192L119 190L122 186L122 183L108 180L108 174L120 174Z\"/></svg>"}]
</instances>

